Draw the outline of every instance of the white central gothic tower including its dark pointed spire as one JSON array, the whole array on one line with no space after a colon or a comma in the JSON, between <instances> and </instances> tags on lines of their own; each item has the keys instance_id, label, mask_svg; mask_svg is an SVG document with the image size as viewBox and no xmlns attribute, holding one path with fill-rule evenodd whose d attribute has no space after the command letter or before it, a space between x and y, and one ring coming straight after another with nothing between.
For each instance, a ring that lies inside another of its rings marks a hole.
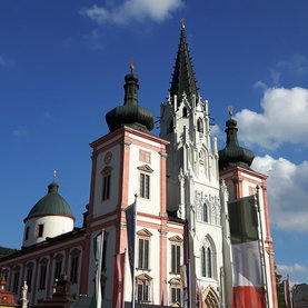
<instances>
[{"instance_id":1,"label":"white central gothic tower including its dark pointed spire","mask_svg":"<svg viewBox=\"0 0 308 308\"><path fill-rule=\"evenodd\" d=\"M169 98L161 105L160 137L170 142L168 212L188 223L185 262L191 271L192 307L196 289L217 305L222 290L221 212L226 202L220 200L217 140L211 138L208 108L197 87L182 24Z\"/></svg>"}]
</instances>

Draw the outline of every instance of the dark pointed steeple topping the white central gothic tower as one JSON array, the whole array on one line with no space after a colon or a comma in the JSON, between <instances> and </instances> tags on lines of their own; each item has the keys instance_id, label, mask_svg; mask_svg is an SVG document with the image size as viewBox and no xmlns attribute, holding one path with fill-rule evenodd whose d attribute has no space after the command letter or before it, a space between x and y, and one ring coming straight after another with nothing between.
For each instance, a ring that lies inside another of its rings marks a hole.
<instances>
[{"instance_id":1,"label":"dark pointed steeple topping the white central gothic tower","mask_svg":"<svg viewBox=\"0 0 308 308\"><path fill-rule=\"evenodd\" d=\"M181 98L182 93L187 96L198 95L197 81L195 79L193 66L187 44L185 24L181 24L180 43L176 58L175 70L170 87L171 98L176 95Z\"/></svg>"}]
</instances>

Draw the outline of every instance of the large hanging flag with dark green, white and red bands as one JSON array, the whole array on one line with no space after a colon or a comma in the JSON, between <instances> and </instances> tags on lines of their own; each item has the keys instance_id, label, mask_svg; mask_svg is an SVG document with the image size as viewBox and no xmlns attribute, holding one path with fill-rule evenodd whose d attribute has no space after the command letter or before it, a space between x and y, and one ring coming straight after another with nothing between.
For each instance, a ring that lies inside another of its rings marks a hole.
<instances>
[{"instance_id":1,"label":"large hanging flag with dark green, white and red bands","mask_svg":"<svg viewBox=\"0 0 308 308\"><path fill-rule=\"evenodd\" d=\"M229 202L234 260L232 308L265 308L266 294L254 196Z\"/></svg>"}]
</instances>

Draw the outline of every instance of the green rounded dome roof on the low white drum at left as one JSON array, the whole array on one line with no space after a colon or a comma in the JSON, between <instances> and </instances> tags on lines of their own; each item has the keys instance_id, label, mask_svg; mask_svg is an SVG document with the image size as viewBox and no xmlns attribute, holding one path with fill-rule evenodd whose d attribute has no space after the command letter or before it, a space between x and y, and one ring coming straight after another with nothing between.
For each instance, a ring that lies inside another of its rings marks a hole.
<instances>
[{"instance_id":1,"label":"green rounded dome roof on the low white drum at left","mask_svg":"<svg viewBox=\"0 0 308 308\"><path fill-rule=\"evenodd\" d=\"M48 186L48 193L33 206L26 220L32 217L49 215L67 216L74 219L69 203L58 193L58 183L50 183Z\"/></svg>"}]
</instances>

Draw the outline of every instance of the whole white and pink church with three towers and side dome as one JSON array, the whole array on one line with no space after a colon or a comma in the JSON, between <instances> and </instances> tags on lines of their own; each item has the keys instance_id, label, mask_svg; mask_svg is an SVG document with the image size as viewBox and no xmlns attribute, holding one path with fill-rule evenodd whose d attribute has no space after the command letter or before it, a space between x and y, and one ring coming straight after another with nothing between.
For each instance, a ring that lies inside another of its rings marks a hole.
<instances>
[{"instance_id":1,"label":"whole white and pink church with three towers and side dome","mask_svg":"<svg viewBox=\"0 0 308 308\"><path fill-rule=\"evenodd\" d=\"M29 307L50 307L66 276L71 307L97 307L99 294L101 307L278 308L267 177L250 168L231 116L218 150L191 61L182 24L159 137L131 66L109 132L90 143L83 225L53 181L29 207L21 249L0 259L16 301L26 281Z\"/></svg>"}]
</instances>

